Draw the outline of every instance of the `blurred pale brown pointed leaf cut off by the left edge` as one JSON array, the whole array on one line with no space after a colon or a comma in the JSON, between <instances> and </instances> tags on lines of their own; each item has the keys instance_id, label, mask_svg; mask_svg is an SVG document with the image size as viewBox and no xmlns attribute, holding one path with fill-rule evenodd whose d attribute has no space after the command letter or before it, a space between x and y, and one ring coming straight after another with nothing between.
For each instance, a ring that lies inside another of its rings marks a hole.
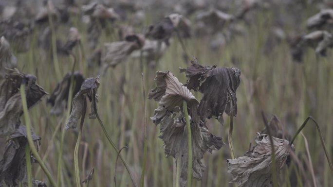
<instances>
[{"instance_id":1,"label":"blurred pale brown pointed leaf cut off by the left edge","mask_svg":"<svg viewBox=\"0 0 333 187\"><path fill-rule=\"evenodd\" d=\"M4 36L0 38L0 80L6 74L6 68L16 68L17 59L14 56L10 45Z\"/></svg>"}]
</instances>

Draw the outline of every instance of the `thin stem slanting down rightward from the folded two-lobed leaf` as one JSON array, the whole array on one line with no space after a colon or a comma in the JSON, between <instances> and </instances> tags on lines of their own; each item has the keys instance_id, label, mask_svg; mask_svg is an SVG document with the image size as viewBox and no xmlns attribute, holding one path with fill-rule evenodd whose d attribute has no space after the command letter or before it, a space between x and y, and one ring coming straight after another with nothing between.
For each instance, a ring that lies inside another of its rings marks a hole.
<instances>
[{"instance_id":1,"label":"thin stem slanting down rightward from the folded two-lobed leaf","mask_svg":"<svg viewBox=\"0 0 333 187\"><path fill-rule=\"evenodd\" d=\"M98 115L98 112L97 112L97 107L96 107L96 98L95 98L96 91L93 90L92 92L93 92L93 95L92 95L93 109L95 111L96 118L97 118L99 124L101 125L103 133L107 137L107 139L108 139L109 143L111 144L112 148L117 152L117 154L119 154L119 150L117 149L116 145L111 140L111 137L107 133L102 120L99 118L99 115ZM134 180L134 177L133 177L132 173L129 170L128 164L126 163L126 161L124 160L124 158L121 156L121 154L119 154L119 157L120 157L121 161L123 162L126 170L129 172L129 176L130 176L130 179L132 180L132 183L133 183L134 187L138 187L138 185L136 184L136 182Z\"/></svg>"}]
</instances>

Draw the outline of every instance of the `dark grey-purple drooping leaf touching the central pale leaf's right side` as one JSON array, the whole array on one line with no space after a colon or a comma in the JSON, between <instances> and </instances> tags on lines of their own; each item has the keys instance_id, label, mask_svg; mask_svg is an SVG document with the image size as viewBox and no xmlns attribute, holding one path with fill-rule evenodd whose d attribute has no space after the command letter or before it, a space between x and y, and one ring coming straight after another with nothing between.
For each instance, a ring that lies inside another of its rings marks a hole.
<instances>
[{"instance_id":1,"label":"dark grey-purple drooping leaf touching the central pale leaf's right side","mask_svg":"<svg viewBox=\"0 0 333 187\"><path fill-rule=\"evenodd\" d=\"M237 114L236 89L240 85L240 70L237 68L201 66L192 61L187 68L187 88L203 93L198 114L204 121L215 117L223 124L222 115Z\"/></svg>"}]
</instances>

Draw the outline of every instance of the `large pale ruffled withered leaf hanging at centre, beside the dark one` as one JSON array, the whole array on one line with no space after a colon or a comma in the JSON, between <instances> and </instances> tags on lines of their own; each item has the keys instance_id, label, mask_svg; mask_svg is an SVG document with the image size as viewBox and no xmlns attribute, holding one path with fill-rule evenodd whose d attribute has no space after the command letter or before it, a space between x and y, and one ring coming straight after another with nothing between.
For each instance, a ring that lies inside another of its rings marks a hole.
<instances>
[{"instance_id":1,"label":"large pale ruffled withered leaf hanging at centre, beside the dark one","mask_svg":"<svg viewBox=\"0 0 333 187\"><path fill-rule=\"evenodd\" d=\"M171 155L177 159L178 155L181 155L180 184L184 187L187 181L188 143L186 122L182 110L183 101L187 102L191 117L192 176L194 178L198 180L202 178L205 167L201 162L203 154L206 151L220 149L223 145L222 138L214 136L199 125L200 118L196 112L199 102L171 72L157 72L154 80L156 87L150 91L148 99L158 101L159 106L150 119L156 125L160 124L160 138L164 141L166 156Z\"/></svg>"}]
</instances>

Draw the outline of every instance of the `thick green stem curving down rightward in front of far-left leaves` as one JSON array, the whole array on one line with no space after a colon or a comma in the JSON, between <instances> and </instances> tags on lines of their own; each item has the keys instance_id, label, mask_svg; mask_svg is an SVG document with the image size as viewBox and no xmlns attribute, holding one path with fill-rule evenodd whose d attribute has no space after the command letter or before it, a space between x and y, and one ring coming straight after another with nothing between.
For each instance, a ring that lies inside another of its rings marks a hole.
<instances>
[{"instance_id":1,"label":"thick green stem curving down rightward in front of far-left leaves","mask_svg":"<svg viewBox=\"0 0 333 187\"><path fill-rule=\"evenodd\" d=\"M45 172L47 178L50 180L52 187L58 187L56 185L56 182L53 180L50 171L44 165L43 161L41 160L41 158L40 158L40 156L37 153L37 150L35 148L34 141L33 141L32 136L31 136L30 117L29 117L29 114L28 114L28 106L27 106L27 101L26 101L26 97L25 97L25 86L23 84L21 84L21 86L20 86L20 92L21 92L21 99L22 99L25 125L26 125L26 129L27 129L27 138L28 138L28 143L29 143L31 152L35 156L35 158L36 158L38 164L40 165L40 167L42 168L42 170Z\"/></svg>"}]
</instances>

